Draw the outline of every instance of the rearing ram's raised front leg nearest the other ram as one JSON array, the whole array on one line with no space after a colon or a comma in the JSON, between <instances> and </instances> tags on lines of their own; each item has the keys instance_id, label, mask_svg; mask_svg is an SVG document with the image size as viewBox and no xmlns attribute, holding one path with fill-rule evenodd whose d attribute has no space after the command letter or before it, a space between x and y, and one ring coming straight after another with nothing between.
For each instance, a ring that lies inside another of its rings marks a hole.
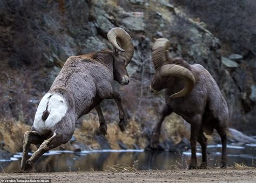
<instances>
[{"instance_id":1,"label":"rearing ram's raised front leg nearest the other ram","mask_svg":"<svg viewBox=\"0 0 256 183\"><path fill-rule=\"evenodd\" d=\"M122 97L120 96L119 93L113 91L112 94L110 95L110 97L108 97L108 98L109 99L113 98L117 103L117 107L118 107L118 111L119 111L119 119L120 119L118 126L119 126L120 130L122 132L124 132L125 127L127 126L127 117L126 117L124 107L122 105Z\"/></svg>"}]
</instances>

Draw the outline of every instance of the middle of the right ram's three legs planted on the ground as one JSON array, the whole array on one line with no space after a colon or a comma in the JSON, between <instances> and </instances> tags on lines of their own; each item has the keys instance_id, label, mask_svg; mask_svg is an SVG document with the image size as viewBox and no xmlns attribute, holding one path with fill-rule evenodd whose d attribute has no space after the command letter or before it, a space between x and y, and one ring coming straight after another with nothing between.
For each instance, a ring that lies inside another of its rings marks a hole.
<instances>
[{"instance_id":1,"label":"middle of the right ram's three legs planted on the ground","mask_svg":"<svg viewBox=\"0 0 256 183\"><path fill-rule=\"evenodd\" d=\"M200 165L200 168L207 168L207 138L204 135L204 131L203 128L200 128L200 131L198 133L198 137L197 137L197 141L198 143L201 145L201 149L202 149L202 162Z\"/></svg>"}]
</instances>

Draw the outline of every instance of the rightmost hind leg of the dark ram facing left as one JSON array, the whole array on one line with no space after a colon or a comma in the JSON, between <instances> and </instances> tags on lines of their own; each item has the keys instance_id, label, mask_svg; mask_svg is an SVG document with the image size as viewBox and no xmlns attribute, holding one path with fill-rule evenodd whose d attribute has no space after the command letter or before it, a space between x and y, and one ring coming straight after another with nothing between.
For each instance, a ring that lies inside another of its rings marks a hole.
<instances>
[{"instance_id":1,"label":"rightmost hind leg of the dark ram facing left","mask_svg":"<svg viewBox=\"0 0 256 183\"><path fill-rule=\"evenodd\" d=\"M227 129L226 126L221 126L219 124L216 127L216 130L220 135L221 144L222 144L221 161L220 161L221 168L227 167L227 130L226 129Z\"/></svg>"}]
</instances>

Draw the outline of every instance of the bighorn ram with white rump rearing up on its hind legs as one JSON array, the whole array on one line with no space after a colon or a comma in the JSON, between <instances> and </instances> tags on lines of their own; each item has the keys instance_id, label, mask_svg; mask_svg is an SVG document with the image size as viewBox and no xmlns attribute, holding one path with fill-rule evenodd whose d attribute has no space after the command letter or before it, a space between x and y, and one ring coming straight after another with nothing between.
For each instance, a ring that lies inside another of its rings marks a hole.
<instances>
[{"instance_id":1,"label":"bighorn ram with white rump rearing up on its hind legs","mask_svg":"<svg viewBox=\"0 0 256 183\"><path fill-rule=\"evenodd\" d=\"M119 110L119 127L127 124L122 98L113 91L116 80L121 85L129 83L126 71L133 56L132 39L127 32L113 28L107 33L113 51L104 50L66 60L50 90L42 98L35 114L31 131L25 132L23 141L22 170L32 168L46 151L67 143L75 130L78 118L94 107L99 115L100 131L106 134L106 124L100 109L103 99L114 99ZM41 144L28 159L30 144Z\"/></svg>"}]
</instances>

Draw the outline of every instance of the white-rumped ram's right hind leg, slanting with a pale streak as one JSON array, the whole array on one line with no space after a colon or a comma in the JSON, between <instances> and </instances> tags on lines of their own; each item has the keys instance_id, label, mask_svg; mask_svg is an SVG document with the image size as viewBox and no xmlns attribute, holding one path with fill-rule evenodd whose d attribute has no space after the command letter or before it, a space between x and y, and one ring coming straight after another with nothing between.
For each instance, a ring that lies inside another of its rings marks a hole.
<instances>
[{"instance_id":1,"label":"white-rumped ram's right hind leg, slanting with a pale streak","mask_svg":"<svg viewBox=\"0 0 256 183\"><path fill-rule=\"evenodd\" d=\"M45 152L52 148L58 147L61 144L65 144L72 137L63 133L53 133L52 137L45 140L38 150L32 154L32 156L26 160L24 170L31 170L36 160L38 160Z\"/></svg>"}]
</instances>

